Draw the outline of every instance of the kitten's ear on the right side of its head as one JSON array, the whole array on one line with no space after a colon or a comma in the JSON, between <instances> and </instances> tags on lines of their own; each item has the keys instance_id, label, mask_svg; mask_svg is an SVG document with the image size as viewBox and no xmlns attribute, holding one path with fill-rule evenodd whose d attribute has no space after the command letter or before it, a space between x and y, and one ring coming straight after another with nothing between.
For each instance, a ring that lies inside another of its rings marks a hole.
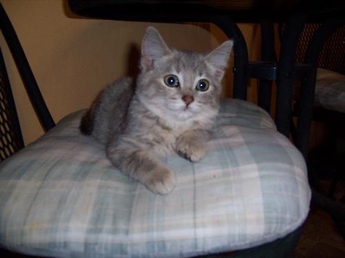
<instances>
[{"instance_id":1,"label":"kitten's ear on the right side of its head","mask_svg":"<svg viewBox=\"0 0 345 258\"><path fill-rule=\"evenodd\" d=\"M208 63L217 69L217 75L219 76L223 76L226 67L228 67L228 60L233 45L233 40L225 41L206 56Z\"/></svg>"}]
</instances>

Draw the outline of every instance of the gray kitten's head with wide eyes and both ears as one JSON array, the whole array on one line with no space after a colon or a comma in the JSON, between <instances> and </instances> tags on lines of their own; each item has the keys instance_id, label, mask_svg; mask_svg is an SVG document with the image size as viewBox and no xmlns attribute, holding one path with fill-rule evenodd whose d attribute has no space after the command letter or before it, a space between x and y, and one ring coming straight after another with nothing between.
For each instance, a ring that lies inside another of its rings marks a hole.
<instances>
[{"instance_id":1,"label":"gray kitten's head with wide eyes and both ears","mask_svg":"<svg viewBox=\"0 0 345 258\"><path fill-rule=\"evenodd\" d=\"M141 43L139 100L167 120L214 118L232 47L233 41L225 41L209 54L178 51L149 27Z\"/></svg>"}]
</instances>

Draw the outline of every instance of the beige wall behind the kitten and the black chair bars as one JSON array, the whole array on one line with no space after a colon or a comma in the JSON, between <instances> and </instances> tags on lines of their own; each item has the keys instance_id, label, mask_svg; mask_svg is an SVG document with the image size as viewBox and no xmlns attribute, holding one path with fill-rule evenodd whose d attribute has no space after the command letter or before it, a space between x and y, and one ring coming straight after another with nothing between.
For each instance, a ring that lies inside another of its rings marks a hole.
<instances>
[{"instance_id":1,"label":"beige wall behind the kitten and the black chair bars","mask_svg":"<svg viewBox=\"0 0 345 258\"><path fill-rule=\"evenodd\" d=\"M104 85L137 69L139 44L148 24L172 47L208 51L226 36L208 24L158 24L70 18L64 1L1 0L37 79L46 104L59 121L88 107ZM257 27L241 25L250 58L258 56ZM26 143L43 134L10 52L0 36ZM134 61L133 61L134 60ZM227 74L226 84L232 77ZM255 91L251 89L250 92ZM229 91L228 91L229 92ZM255 94L250 93L255 100Z\"/></svg>"}]
</instances>

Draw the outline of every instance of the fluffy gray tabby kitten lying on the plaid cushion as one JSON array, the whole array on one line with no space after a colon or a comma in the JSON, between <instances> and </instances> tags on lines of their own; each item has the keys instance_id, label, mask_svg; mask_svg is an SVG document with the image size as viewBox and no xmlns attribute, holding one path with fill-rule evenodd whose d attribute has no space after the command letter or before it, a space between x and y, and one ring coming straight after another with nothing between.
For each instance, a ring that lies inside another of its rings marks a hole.
<instances>
[{"instance_id":1,"label":"fluffy gray tabby kitten lying on the plaid cushion","mask_svg":"<svg viewBox=\"0 0 345 258\"><path fill-rule=\"evenodd\" d=\"M83 116L81 131L106 144L109 160L124 174L154 193L169 193L175 175L157 156L204 157L232 47L226 41L210 54L178 51L149 27L136 83L120 78L106 87Z\"/></svg>"}]
</instances>

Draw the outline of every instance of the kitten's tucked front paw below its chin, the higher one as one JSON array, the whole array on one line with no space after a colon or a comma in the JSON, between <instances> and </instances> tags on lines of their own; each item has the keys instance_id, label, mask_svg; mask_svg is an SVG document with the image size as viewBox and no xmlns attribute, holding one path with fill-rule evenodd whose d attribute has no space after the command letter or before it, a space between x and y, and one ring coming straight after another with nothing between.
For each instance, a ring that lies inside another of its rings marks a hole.
<instances>
[{"instance_id":1,"label":"kitten's tucked front paw below its chin, the higher one","mask_svg":"<svg viewBox=\"0 0 345 258\"><path fill-rule=\"evenodd\" d=\"M181 141L177 144L176 149L177 154L179 154L182 158L193 162L204 158L204 155L207 152L207 149L204 145L196 144L195 142Z\"/></svg>"}]
</instances>

